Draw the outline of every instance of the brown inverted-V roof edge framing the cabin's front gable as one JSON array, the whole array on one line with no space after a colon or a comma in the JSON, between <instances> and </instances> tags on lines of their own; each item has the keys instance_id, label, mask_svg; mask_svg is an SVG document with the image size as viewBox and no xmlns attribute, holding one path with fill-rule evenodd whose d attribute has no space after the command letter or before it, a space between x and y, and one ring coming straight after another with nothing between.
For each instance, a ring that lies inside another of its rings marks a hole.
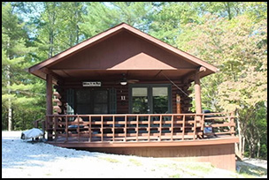
<instances>
[{"instance_id":1,"label":"brown inverted-V roof edge framing the cabin's front gable","mask_svg":"<svg viewBox=\"0 0 269 180\"><path fill-rule=\"evenodd\" d=\"M188 61L188 63L203 66L207 72L201 75L201 77L204 77L206 75L209 75L211 73L218 71L217 67L204 62L203 60L197 58L196 56L192 56L188 54L187 52L184 52L180 49L176 49L173 46L165 43L164 41L160 41L157 38L150 36L149 34L145 34L142 31L136 29L135 27L127 25L126 23L121 23L118 26L111 27L110 29L104 31L103 33L96 34L95 36L89 38L88 40L82 41L81 43L71 47L70 49L66 49L63 52L58 53L58 55L56 56L52 56L49 59L42 61L39 64L35 64L31 66L30 68L28 68L28 71L42 79L46 79L45 74L48 73L48 69L46 67L52 64L57 64L63 61L66 57L72 56L80 52L82 49L86 49L90 46L93 46L100 41L104 41L105 39L111 37L114 34L118 34L119 32L123 30L127 30L129 33L135 34L141 37L142 39L144 39L145 41L149 41L150 43L153 43L162 49L168 50L171 53L174 53L178 56L183 57L185 61Z\"/></svg>"}]
</instances>

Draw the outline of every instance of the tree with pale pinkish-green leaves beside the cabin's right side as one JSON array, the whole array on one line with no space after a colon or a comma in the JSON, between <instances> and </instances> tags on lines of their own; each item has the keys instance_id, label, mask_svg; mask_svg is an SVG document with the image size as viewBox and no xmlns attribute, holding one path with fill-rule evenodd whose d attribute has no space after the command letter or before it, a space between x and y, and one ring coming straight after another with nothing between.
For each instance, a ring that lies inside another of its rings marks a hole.
<instances>
[{"instance_id":1,"label":"tree with pale pinkish-green leaves beside the cabin's right side","mask_svg":"<svg viewBox=\"0 0 269 180\"><path fill-rule=\"evenodd\" d=\"M253 154L262 134L256 128L257 104L267 97L266 21L253 24L246 15L231 20L208 15L206 19L201 25L186 26L178 45L219 68L220 73L202 79L203 106L236 109L239 155L244 153L245 140Z\"/></svg>"}]
</instances>

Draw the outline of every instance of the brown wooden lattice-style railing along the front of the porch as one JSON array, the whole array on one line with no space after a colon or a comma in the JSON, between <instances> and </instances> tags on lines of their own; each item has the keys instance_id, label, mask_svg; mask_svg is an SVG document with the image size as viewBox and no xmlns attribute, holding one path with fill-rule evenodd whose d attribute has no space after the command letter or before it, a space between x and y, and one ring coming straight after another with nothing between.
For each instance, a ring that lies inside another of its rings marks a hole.
<instances>
[{"instance_id":1,"label":"brown wooden lattice-style railing along the front of the porch","mask_svg":"<svg viewBox=\"0 0 269 180\"><path fill-rule=\"evenodd\" d=\"M234 136L233 113L46 116L48 139L64 142L175 141Z\"/></svg>"}]
</instances>

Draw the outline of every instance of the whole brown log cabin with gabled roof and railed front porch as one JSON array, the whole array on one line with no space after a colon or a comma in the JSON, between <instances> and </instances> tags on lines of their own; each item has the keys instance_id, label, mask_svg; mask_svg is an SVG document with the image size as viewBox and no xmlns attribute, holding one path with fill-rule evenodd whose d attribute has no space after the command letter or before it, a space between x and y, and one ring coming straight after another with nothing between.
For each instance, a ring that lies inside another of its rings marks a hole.
<instances>
[{"instance_id":1,"label":"whole brown log cabin with gabled roof and railed front porch","mask_svg":"<svg viewBox=\"0 0 269 180\"><path fill-rule=\"evenodd\" d=\"M52 145L235 170L234 115L203 113L200 79L218 69L196 56L122 23L28 71L46 80Z\"/></svg>"}]
</instances>

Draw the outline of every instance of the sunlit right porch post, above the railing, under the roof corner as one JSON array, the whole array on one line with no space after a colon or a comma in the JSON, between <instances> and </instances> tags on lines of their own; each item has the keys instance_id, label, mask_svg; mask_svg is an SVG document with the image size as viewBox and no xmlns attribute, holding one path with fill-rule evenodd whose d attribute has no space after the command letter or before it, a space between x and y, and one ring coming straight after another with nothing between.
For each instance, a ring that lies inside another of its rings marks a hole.
<instances>
[{"instance_id":1,"label":"sunlit right porch post, above the railing, under the roof corner","mask_svg":"<svg viewBox=\"0 0 269 180\"><path fill-rule=\"evenodd\" d=\"M202 102L201 102L201 86L200 86L200 75L199 70L195 74L195 97L196 97L196 114L202 113Z\"/></svg>"}]
</instances>

